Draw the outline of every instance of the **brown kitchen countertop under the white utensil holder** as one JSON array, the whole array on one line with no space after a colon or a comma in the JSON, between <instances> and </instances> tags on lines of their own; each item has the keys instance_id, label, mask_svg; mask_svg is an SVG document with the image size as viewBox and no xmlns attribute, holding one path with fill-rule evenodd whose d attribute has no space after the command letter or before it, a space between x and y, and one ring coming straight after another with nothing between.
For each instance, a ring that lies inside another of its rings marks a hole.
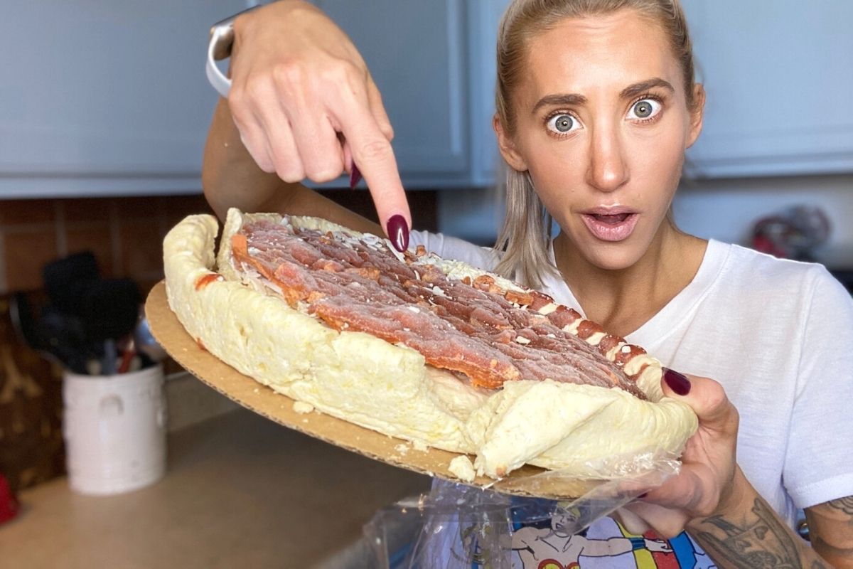
<instances>
[{"instance_id":1,"label":"brown kitchen countertop under the white utensil holder","mask_svg":"<svg viewBox=\"0 0 853 569\"><path fill-rule=\"evenodd\" d=\"M55 479L0 525L0 567L311 567L430 479L237 409L169 435L164 479L83 496Z\"/></svg>"}]
</instances>

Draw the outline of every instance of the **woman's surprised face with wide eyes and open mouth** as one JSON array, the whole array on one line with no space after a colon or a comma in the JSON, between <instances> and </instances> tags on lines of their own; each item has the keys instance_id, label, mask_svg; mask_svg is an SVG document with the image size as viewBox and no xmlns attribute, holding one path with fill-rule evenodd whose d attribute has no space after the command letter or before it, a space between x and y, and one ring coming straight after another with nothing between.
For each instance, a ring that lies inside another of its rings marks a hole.
<instances>
[{"instance_id":1,"label":"woman's surprised face with wide eyes and open mouth","mask_svg":"<svg viewBox=\"0 0 853 569\"><path fill-rule=\"evenodd\" d=\"M564 20L527 50L514 136L496 124L502 154L530 172L564 245L601 269L630 267L664 222L701 130L682 69L663 30L631 10Z\"/></svg>"}]
</instances>

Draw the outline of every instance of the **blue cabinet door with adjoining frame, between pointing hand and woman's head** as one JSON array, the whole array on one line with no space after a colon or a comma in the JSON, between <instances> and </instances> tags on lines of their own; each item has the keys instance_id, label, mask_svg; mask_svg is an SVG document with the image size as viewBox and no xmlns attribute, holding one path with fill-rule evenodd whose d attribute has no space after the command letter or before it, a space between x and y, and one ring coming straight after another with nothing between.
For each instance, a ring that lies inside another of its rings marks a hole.
<instances>
[{"instance_id":1,"label":"blue cabinet door with adjoining frame, between pointing hand and woman's head","mask_svg":"<svg viewBox=\"0 0 853 569\"><path fill-rule=\"evenodd\" d=\"M314 3L349 34L368 64L394 127L403 183L491 183L493 54L507 0Z\"/></svg>"}]
</instances>

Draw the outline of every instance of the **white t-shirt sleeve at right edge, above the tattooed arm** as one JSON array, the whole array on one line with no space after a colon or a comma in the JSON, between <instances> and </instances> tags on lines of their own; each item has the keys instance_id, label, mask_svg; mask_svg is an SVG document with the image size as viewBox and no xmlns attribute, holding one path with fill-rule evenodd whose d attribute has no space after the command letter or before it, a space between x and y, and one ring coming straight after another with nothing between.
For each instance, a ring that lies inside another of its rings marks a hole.
<instances>
[{"instance_id":1,"label":"white t-shirt sleeve at right edge, above the tattooed arm","mask_svg":"<svg viewBox=\"0 0 853 569\"><path fill-rule=\"evenodd\" d=\"M853 495L853 299L822 267L803 332L782 474L798 508Z\"/></svg>"}]
</instances>

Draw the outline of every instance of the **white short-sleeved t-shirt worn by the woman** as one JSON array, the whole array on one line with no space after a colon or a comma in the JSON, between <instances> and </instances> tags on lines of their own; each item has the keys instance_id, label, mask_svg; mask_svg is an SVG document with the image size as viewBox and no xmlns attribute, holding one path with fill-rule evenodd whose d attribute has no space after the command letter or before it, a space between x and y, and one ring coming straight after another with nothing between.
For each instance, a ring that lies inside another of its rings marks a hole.
<instances>
[{"instance_id":1,"label":"white short-sleeved t-shirt worn by the woman","mask_svg":"<svg viewBox=\"0 0 853 569\"><path fill-rule=\"evenodd\" d=\"M440 234L411 241L485 270L497 262ZM542 290L583 314L559 276ZM693 282L625 340L722 384L740 413L738 463L789 525L798 508L853 495L853 299L822 265L712 240Z\"/></svg>"}]
</instances>

